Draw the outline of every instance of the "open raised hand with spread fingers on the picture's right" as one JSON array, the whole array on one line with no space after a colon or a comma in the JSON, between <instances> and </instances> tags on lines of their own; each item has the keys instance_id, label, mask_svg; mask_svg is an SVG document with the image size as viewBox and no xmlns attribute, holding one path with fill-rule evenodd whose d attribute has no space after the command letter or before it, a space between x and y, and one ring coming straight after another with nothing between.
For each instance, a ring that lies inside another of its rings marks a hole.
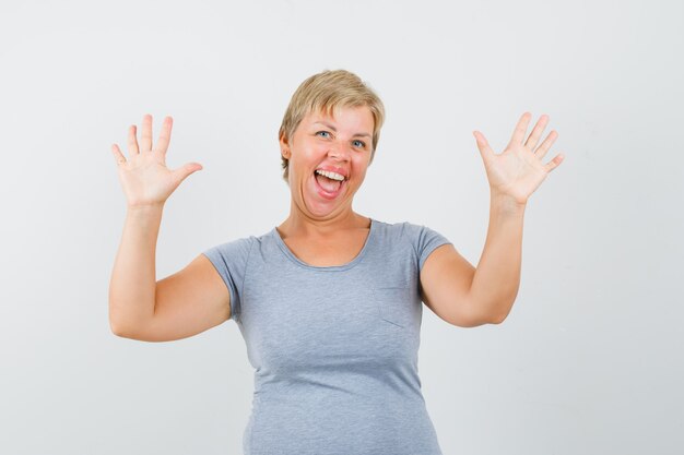
<instances>
[{"instance_id":1,"label":"open raised hand with spread fingers on the picture's right","mask_svg":"<svg viewBox=\"0 0 684 455\"><path fill-rule=\"evenodd\" d=\"M487 140L480 131L473 131L477 148L480 148L480 154L484 160L492 195L510 197L511 201L520 205L527 204L530 195L544 181L549 172L561 165L565 157L563 154L558 154L547 164L542 164L544 155L558 137L558 133L552 130L544 142L536 147L539 139L546 123L549 123L549 116L540 117L526 141L524 136L531 118L530 112L522 115L508 146L498 155L490 147Z\"/></svg>"}]
</instances>

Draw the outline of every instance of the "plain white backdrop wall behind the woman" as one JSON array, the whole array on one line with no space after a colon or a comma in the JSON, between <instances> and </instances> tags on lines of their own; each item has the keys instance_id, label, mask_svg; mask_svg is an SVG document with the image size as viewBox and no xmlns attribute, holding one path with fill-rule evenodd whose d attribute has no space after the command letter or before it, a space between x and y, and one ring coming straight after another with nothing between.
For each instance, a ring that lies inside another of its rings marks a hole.
<instances>
[{"instance_id":1,"label":"plain white backdrop wall behind the woman","mask_svg":"<svg viewBox=\"0 0 684 455\"><path fill-rule=\"evenodd\" d=\"M278 129L304 79L358 74L387 122L354 208L477 264L524 111L565 154L526 211L500 325L426 307L420 374L445 455L684 451L681 1L60 1L0 5L0 453L239 454L252 369L228 321L115 336L126 201L110 145L174 118L157 279L290 209ZM353 438L353 435L350 435Z\"/></svg>"}]
</instances>

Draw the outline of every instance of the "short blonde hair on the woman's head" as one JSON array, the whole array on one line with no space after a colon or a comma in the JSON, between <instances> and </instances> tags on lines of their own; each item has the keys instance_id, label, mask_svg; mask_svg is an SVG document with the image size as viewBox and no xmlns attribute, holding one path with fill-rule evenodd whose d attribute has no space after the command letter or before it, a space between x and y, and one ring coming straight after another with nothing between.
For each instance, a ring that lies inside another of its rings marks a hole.
<instances>
[{"instance_id":1,"label":"short blonde hair on the woman's head","mask_svg":"<svg viewBox=\"0 0 684 455\"><path fill-rule=\"evenodd\" d=\"M278 137L292 140L302 119L310 112L332 115L337 108L366 106L374 119L370 163L385 121L385 106L378 95L356 74L346 70L326 70L304 81L292 95ZM290 160L281 155L283 179L287 180Z\"/></svg>"}]
</instances>

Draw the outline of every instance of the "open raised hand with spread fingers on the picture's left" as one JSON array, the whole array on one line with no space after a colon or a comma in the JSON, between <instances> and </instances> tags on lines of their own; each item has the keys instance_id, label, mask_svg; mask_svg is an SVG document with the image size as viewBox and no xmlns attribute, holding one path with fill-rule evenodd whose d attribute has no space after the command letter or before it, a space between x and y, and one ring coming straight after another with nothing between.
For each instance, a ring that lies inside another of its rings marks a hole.
<instances>
[{"instance_id":1,"label":"open raised hand with spread fingers on the picture's left","mask_svg":"<svg viewBox=\"0 0 684 455\"><path fill-rule=\"evenodd\" d=\"M163 206L181 181L196 170L202 169L199 163L187 163L170 170L166 167L166 149L170 141L173 119L166 117L156 146L152 146L152 116L142 119L140 147L135 137L137 127L128 129L127 159L117 144L111 144L111 153L119 168L119 181L123 188L129 207Z\"/></svg>"}]
</instances>

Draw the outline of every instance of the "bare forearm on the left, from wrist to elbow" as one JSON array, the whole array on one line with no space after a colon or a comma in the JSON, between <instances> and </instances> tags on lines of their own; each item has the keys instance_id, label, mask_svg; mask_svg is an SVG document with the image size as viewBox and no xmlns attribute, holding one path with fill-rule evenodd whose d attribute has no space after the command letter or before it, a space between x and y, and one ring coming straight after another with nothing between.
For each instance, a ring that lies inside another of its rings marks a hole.
<instances>
[{"instance_id":1,"label":"bare forearm on the left, from wrist to elbow","mask_svg":"<svg viewBox=\"0 0 684 455\"><path fill-rule=\"evenodd\" d=\"M129 207L109 282L109 323L125 334L154 315L155 250L163 206Z\"/></svg>"}]
</instances>

